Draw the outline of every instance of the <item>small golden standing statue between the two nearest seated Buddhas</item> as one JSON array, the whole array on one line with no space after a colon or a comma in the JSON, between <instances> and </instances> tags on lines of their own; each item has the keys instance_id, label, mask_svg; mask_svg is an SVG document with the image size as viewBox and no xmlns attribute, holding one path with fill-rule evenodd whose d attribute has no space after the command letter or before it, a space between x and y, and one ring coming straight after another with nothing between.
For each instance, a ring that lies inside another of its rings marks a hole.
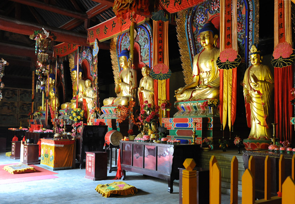
<instances>
[{"instance_id":1,"label":"small golden standing statue between the two nearest seated Buddhas","mask_svg":"<svg viewBox=\"0 0 295 204\"><path fill-rule=\"evenodd\" d=\"M154 106L154 82L153 78L149 75L150 68L148 66L144 66L142 68L143 78L139 82L138 87L138 99L140 106L144 105L144 101L148 101L152 106Z\"/></svg>"}]
</instances>

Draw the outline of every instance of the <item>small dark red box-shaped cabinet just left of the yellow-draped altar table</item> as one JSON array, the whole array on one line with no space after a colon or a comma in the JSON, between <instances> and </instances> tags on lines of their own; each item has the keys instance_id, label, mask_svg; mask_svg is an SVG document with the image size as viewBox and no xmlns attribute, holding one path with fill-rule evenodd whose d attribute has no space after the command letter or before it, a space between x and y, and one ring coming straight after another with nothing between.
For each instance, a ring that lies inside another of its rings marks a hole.
<instances>
[{"instance_id":1,"label":"small dark red box-shaped cabinet just left of the yellow-draped altar table","mask_svg":"<svg viewBox=\"0 0 295 204\"><path fill-rule=\"evenodd\" d=\"M24 164L39 164L39 145L26 144L24 145Z\"/></svg>"}]
</instances>

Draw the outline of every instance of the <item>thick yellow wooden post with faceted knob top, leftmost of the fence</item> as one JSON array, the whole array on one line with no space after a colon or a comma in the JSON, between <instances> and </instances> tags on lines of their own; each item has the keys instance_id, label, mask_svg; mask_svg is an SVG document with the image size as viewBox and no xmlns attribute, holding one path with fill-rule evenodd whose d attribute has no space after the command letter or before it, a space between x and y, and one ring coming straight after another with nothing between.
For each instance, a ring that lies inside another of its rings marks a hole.
<instances>
[{"instance_id":1,"label":"thick yellow wooden post with faceted knob top, leftmost of the fence","mask_svg":"<svg viewBox=\"0 0 295 204\"><path fill-rule=\"evenodd\" d=\"M197 171L194 159L185 159L182 170L182 204L197 204Z\"/></svg>"}]
</instances>

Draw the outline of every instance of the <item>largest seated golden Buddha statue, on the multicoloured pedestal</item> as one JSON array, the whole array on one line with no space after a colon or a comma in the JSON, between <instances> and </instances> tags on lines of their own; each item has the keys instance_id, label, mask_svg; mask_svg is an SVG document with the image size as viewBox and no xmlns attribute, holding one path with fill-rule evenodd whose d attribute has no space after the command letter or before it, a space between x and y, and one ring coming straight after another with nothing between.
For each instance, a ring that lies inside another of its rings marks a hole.
<instances>
[{"instance_id":1,"label":"largest seated golden Buddha statue, on the multicoloured pedestal","mask_svg":"<svg viewBox=\"0 0 295 204\"><path fill-rule=\"evenodd\" d=\"M209 22L200 30L200 38L203 50L193 59L193 82L175 91L177 101L219 98L218 30Z\"/></svg>"}]
</instances>

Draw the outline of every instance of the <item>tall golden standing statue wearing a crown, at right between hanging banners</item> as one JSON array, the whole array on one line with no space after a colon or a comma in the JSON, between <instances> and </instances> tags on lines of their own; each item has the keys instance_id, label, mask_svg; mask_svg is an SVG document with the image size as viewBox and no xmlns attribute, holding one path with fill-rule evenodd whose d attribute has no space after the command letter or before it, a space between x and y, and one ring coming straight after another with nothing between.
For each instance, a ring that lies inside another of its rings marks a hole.
<instances>
[{"instance_id":1,"label":"tall golden standing statue wearing a crown, at right between hanging banners","mask_svg":"<svg viewBox=\"0 0 295 204\"><path fill-rule=\"evenodd\" d=\"M272 118L274 80L269 67L261 63L261 52L252 45L252 65L246 70L243 80L246 117L251 127L249 139L271 138L269 125Z\"/></svg>"}]
</instances>

